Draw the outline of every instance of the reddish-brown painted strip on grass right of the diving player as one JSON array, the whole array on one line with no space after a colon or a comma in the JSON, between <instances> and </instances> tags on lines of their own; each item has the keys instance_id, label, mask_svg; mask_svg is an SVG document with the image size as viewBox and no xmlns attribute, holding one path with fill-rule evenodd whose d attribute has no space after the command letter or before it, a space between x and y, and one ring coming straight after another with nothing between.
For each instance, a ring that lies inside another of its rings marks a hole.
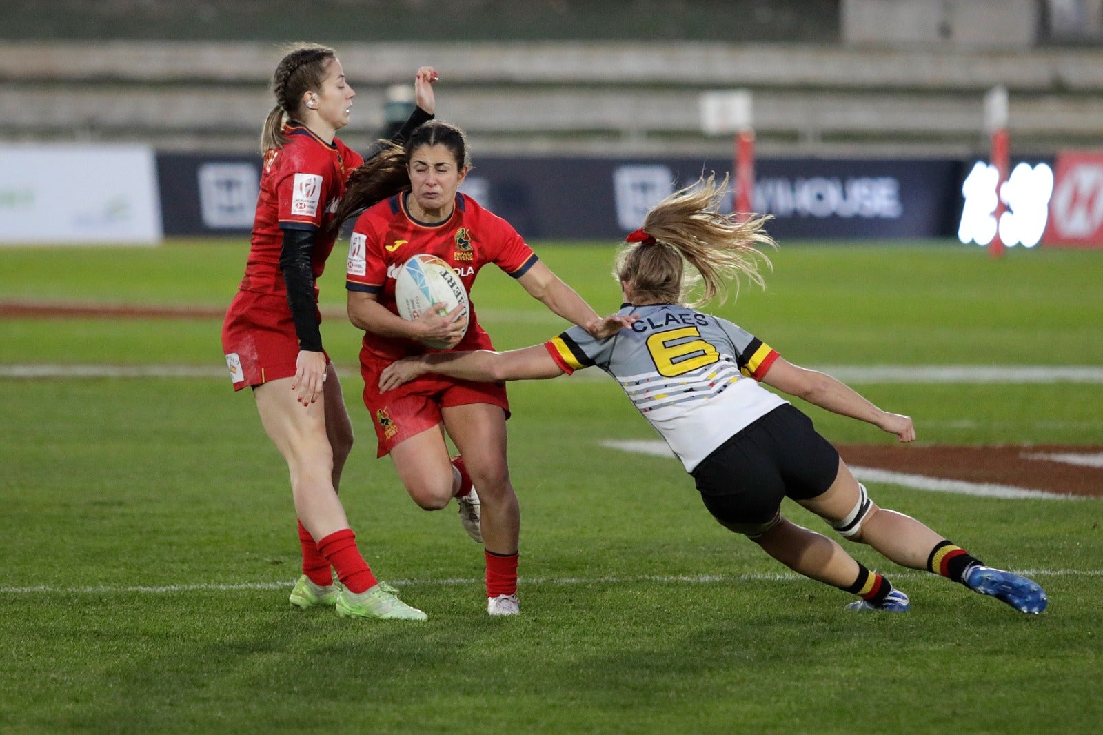
<instances>
[{"instance_id":1,"label":"reddish-brown painted strip on grass right of the diving player","mask_svg":"<svg viewBox=\"0 0 1103 735\"><path fill-rule=\"evenodd\" d=\"M1103 445L956 447L854 444L840 445L838 450L847 465L856 467L1103 498L1103 468L1028 457L1100 454L1103 452Z\"/></svg>"}]
</instances>

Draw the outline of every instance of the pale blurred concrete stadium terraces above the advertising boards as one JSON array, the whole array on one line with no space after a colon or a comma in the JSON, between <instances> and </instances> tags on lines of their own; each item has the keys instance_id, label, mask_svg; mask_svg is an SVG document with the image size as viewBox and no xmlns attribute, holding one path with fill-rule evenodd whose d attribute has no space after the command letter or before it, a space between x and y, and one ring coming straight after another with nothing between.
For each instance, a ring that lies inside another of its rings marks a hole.
<instances>
[{"instance_id":1,"label":"pale blurred concrete stadium terraces above the advertising boards","mask_svg":"<svg viewBox=\"0 0 1103 735\"><path fill-rule=\"evenodd\" d=\"M184 15L165 9L174 3L85 4L107 10L142 7L147 12L161 8L171 15L161 19L163 38L172 38L173 32L180 36L197 33L184 23ZM245 12L258 3L242 4L245 9L238 10ZM280 4L267 7L278 11ZM328 4L350 12L350 3ZM408 11L418 3L367 4ZM495 2L458 4L467 7L474 20L479 13L501 10ZM664 38L639 19L634 24L628 20L615 24L622 34L635 33L639 40L587 40L580 28L592 28L587 21L592 21L595 11L585 9L608 4L644 8L662 3L537 2L532 3L536 10L525 17L524 28L520 21L494 26L500 34L505 29L532 35L529 25L543 18L547 28L549 13L561 14L566 7L576 14L570 15L571 22L560 18L569 26L560 30L574 31L576 40L546 38L549 34L479 42L311 38L338 47L357 89L353 124L342 136L354 147L366 145L383 127L387 87L408 82L413 71L427 63L436 65L442 76L438 88L442 117L467 128L480 152L725 153L730 150L729 139L709 138L700 130L698 98L703 92L732 88L754 95L758 149L763 155L978 155L988 147L982 125L983 97L997 84L1010 93L1017 151L1094 146L1103 139L1103 51L1099 45L999 49L963 43L843 43L837 2L801 3L808 13L797 22L795 15L783 12L794 3L747 0L702 3L715 6L720 20L730 21L732 10L743 12L745 22L729 26L739 36L730 42L707 35L694 41ZM679 9L693 4L673 3L672 18L677 20ZM726 9L721 11L720 6ZM205 7L192 13L193 24L202 21ZM754 15L756 8L772 10ZM103 26L107 10L98 25L88 26ZM19 20L12 15L13 22ZM699 20L699 15L693 18ZM290 11L269 14L285 22L287 17ZM504 11L503 17L513 18ZM236 28L232 22L236 18L224 19L224 32ZM753 18L761 22L748 20ZM169 22L173 19L176 25ZM667 36L688 35L696 26L687 23L676 25L681 33ZM19 28L15 23L7 33L18 33ZM413 34L404 28L392 30L397 36ZM736 33L735 28L741 31ZM765 28L774 29L774 36ZM278 38L278 29L264 29ZM777 39L779 29L792 38ZM64 29L54 29L56 36L65 38L17 36L2 44L0 135L4 139L142 141L162 150L256 148L259 124L271 104L265 82L281 53L277 43L99 41L75 32L87 31L85 25L74 24L69 30L66 34ZM752 35L756 30L759 38ZM151 32L148 24L143 32ZM205 38L212 35L217 34Z\"/></svg>"}]
</instances>

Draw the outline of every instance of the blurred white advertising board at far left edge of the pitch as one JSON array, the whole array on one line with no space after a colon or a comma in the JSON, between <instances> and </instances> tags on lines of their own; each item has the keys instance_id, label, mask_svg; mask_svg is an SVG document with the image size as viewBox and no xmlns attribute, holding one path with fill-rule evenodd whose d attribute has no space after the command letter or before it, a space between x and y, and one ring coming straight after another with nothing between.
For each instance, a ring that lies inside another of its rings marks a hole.
<instances>
[{"instance_id":1,"label":"blurred white advertising board at far left edge of the pitch","mask_svg":"<svg viewBox=\"0 0 1103 735\"><path fill-rule=\"evenodd\" d=\"M0 245L157 245L147 146L0 145Z\"/></svg>"}]
</instances>

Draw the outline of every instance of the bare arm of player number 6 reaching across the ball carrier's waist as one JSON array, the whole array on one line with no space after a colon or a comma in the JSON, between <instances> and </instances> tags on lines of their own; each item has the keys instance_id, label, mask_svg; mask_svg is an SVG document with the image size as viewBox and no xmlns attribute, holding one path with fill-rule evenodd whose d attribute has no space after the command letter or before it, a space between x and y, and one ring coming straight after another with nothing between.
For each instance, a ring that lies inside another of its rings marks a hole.
<instances>
[{"instance_id":1,"label":"bare arm of player number 6 reaching across the ball carrier's waist","mask_svg":"<svg viewBox=\"0 0 1103 735\"><path fill-rule=\"evenodd\" d=\"M508 352L474 350L432 352L393 362L379 375L379 392L385 393L426 373L482 383L540 380L563 375L543 344Z\"/></svg>"}]
</instances>

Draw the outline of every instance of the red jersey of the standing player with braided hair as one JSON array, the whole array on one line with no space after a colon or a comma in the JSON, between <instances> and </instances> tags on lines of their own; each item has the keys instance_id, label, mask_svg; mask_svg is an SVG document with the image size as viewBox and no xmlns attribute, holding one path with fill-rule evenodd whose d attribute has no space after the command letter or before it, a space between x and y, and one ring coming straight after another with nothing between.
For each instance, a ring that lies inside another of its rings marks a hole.
<instances>
[{"instance_id":1,"label":"red jersey of the standing player with braided hair","mask_svg":"<svg viewBox=\"0 0 1103 735\"><path fill-rule=\"evenodd\" d=\"M328 143L298 124L283 126L283 135L290 139L287 145L265 156L242 290L287 295L279 267L283 230L319 233L311 255L317 281L336 239L336 234L326 232L344 194L345 180L364 160L340 139ZM314 300L318 300L317 284Z\"/></svg>"}]
</instances>

